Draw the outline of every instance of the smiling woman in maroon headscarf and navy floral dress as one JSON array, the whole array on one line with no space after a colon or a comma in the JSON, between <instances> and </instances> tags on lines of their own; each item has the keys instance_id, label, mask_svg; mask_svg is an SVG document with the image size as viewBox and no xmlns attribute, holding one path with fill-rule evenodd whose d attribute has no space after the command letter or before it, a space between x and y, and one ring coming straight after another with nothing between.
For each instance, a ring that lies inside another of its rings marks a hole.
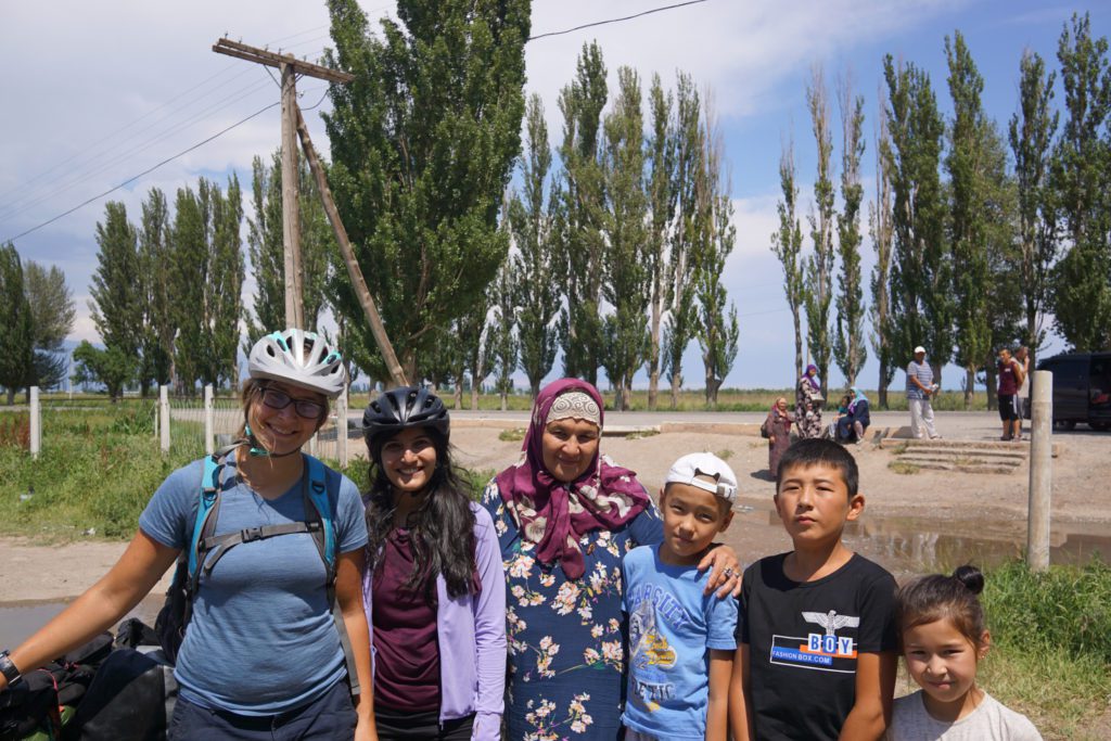
<instances>
[{"instance_id":1,"label":"smiling woman in maroon headscarf and navy floral dress","mask_svg":"<svg viewBox=\"0 0 1111 741\"><path fill-rule=\"evenodd\" d=\"M617 739L624 695L621 559L663 538L637 474L599 453L602 398L577 379L541 390L521 460L482 497L509 589L507 739ZM732 549L711 551L719 594Z\"/></svg>"}]
</instances>

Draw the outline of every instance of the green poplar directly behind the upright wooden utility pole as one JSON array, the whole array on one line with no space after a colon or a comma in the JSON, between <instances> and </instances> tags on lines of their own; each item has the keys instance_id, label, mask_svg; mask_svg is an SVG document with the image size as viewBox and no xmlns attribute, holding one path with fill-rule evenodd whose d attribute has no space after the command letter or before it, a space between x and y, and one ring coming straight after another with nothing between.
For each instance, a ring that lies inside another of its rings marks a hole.
<instances>
[{"instance_id":1,"label":"green poplar directly behind the upright wooden utility pole","mask_svg":"<svg viewBox=\"0 0 1111 741\"><path fill-rule=\"evenodd\" d=\"M306 159L299 158L298 223L301 246L301 289L304 329L317 330L327 306L332 256L338 254L336 236L324 213L316 178ZM253 312L247 312L244 352L263 334L286 327L286 263L282 238L281 149L274 150L270 167L260 157L251 162L251 206L254 218L247 219L247 254L251 261L256 291ZM361 316L361 314L360 314Z\"/></svg>"}]
</instances>

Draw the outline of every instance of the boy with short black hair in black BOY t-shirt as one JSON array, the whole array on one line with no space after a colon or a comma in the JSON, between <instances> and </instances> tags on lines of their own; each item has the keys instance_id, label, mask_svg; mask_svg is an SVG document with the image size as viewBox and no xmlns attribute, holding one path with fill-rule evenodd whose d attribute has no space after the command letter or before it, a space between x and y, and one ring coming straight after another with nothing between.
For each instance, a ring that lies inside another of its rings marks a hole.
<instances>
[{"instance_id":1,"label":"boy with short black hair in black BOY t-shirt","mask_svg":"<svg viewBox=\"0 0 1111 741\"><path fill-rule=\"evenodd\" d=\"M895 581L841 542L864 509L857 461L800 440L779 464L775 510L794 550L744 571L729 723L742 739L879 739L891 719Z\"/></svg>"}]
</instances>

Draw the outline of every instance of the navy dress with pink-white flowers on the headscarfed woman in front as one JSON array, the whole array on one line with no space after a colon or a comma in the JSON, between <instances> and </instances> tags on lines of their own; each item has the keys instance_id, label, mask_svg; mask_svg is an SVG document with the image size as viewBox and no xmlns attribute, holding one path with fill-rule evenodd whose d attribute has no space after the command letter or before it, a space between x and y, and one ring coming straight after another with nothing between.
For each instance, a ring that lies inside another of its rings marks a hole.
<instances>
[{"instance_id":1,"label":"navy dress with pink-white flowers on the headscarfed woman in front","mask_svg":"<svg viewBox=\"0 0 1111 741\"><path fill-rule=\"evenodd\" d=\"M497 482L482 505L493 517L509 589L506 738L617 739L625 692L621 559L663 540L659 511L650 503L625 527L584 534L585 571L569 580L558 562L536 560L536 544L521 539Z\"/></svg>"}]
</instances>

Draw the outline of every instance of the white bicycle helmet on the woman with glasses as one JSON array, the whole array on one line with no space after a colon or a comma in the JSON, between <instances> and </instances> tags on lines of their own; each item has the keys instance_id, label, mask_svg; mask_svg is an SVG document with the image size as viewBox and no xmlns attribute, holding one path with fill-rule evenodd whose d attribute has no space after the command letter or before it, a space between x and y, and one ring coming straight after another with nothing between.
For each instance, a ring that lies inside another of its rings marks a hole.
<instances>
[{"instance_id":1,"label":"white bicycle helmet on the woman with glasses","mask_svg":"<svg viewBox=\"0 0 1111 741\"><path fill-rule=\"evenodd\" d=\"M343 392L347 370L338 350L316 332L288 329L267 334L251 348L247 372L251 378L286 381L319 391L329 399Z\"/></svg>"}]
</instances>

